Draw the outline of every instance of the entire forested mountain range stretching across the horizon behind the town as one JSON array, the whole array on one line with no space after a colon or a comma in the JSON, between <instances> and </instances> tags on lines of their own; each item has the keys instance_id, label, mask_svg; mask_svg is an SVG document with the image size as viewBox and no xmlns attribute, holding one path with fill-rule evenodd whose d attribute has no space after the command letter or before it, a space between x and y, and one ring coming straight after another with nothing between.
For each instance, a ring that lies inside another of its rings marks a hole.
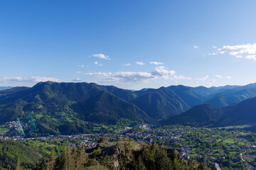
<instances>
[{"instance_id":1,"label":"entire forested mountain range stretching across the horizon behind the town","mask_svg":"<svg viewBox=\"0 0 256 170\"><path fill-rule=\"evenodd\" d=\"M0 124L26 120L31 113L39 132L49 134L92 132L95 125L138 125L160 119L165 124L236 125L248 123L255 96L256 84L130 91L85 82L47 81L31 88L1 90Z\"/></svg>"}]
</instances>

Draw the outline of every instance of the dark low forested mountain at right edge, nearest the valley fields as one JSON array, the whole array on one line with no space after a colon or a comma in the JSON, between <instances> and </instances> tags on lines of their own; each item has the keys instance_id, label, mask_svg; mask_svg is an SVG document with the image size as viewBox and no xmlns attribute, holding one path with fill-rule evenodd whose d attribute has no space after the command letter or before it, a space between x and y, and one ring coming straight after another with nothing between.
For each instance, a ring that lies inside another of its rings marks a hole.
<instances>
[{"instance_id":1,"label":"dark low forested mountain at right edge, nearest the valley fields","mask_svg":"<svg viewBox=\"0 0 256 170\"><path fill-rule=\"evenodd\" d=\"M210 103L194 106L189 111L161 120L162 125L230 126L256 123L256 97L218 108Z\"/></svg>"}]
</instances>

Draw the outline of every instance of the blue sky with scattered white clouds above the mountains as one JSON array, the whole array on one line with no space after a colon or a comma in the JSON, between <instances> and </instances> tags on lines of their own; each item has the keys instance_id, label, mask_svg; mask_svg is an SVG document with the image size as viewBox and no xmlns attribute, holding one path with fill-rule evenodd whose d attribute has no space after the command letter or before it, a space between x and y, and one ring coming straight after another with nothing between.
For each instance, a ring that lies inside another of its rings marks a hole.
<instances>
[{"instance_id":1,"label":"blue sky with scattered white clouds above the mountains","mask_svg":"<svg viewBox=\"0 0 256 170\"><path fill-rule=\"evenodd\" d=\"M0 86L256 82L255 0L0 1Z\"/></svg>"}]
</instances>

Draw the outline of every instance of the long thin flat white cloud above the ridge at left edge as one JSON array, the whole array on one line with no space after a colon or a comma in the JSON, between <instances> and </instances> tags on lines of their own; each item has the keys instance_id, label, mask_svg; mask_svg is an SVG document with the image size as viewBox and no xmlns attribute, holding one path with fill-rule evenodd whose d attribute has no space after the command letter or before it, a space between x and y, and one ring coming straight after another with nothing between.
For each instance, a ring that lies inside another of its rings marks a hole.
<instances>
[{"instance_id":1,"label":"long thin flat white cloud above the ridge at left edge","mask_svg":"<svg viewBox=\"0 0 256 170\"><path fill-rule=\"evenodd\" d=\"M0 81L7 81L7 82L15 82L19 84L23 83L38 83L44 81L55 81L60 82L59 79L55 79L52 77L0 77Z\"/></svg>"}]
</instances>

